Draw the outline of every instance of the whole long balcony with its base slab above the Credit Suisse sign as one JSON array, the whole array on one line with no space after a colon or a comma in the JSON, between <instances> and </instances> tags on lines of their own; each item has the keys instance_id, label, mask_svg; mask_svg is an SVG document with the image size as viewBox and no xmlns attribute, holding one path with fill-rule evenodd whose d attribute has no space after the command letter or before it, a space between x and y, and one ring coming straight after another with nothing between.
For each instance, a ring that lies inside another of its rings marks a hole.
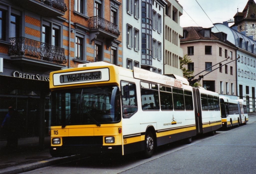
<instances>
[{"instance_id":1,"label":"whole long balcony with its base slab above the Credit Suisse sign","mask_svg":"<svg viewBox=\"0 0 256 174\"><path fill-rule=\"evenodd\" d=\"M8 54L12 60L21 60L26 64L38 64L55 69L63 68L67 63L65 49L25 37L10 38ZM58 63L58 64L57 64Z\"/></svg>"}]
</instances>

